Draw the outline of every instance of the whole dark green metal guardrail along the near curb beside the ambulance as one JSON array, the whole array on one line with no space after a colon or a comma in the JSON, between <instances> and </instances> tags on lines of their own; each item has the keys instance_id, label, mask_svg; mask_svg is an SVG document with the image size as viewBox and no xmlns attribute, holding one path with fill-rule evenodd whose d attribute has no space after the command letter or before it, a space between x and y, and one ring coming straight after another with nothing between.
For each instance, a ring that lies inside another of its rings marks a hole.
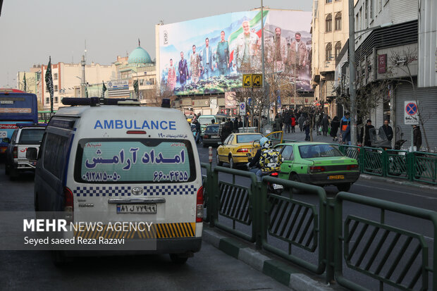
<instances>
[{"instance_id":1,"label":"whole dark green metal guardrail along the near curb beside the ambulance","mask_svg":"<svg viewBox=\"0 0 437 291\"><path fill-rule=\"evenodd\" d=\"M385 153L381 159L390 155L401 156L393 151ZM404 159L398 159L393 162L405 163ZM412 156L406 159L408 161ZM426 166L430 161L434 162L433 159L426 159ZM266 249L314 273L326 271L327 283L335 279L352 290L367 289L348 280L343 268L373 278L379 282L380 290L383 290L384 284L401 290L428 290L429 273L432 273L431 288L437 287L437 242L434 239L437 212L347 192L340 192L335 198L326 198L322 187L269 176L258 182L254 173L219 166L212 169L207 163L202 163L202 168L207 169L204 185L211 227L254 242L257 249ZM232 175L232 182L219 180L219 173ZM405 175L404 169L402 175ZM236 185L236 177L249 178L250 185ZM269 193L268 183L283 185L290 190L290 195ZM296 191L316 194L319 205L293 198ZM379 221L357 213L343 217L345 201L380 209ZM386 223L387 211L431 221L433 248L430 249L424 235ZM222 223L219 218L230 219L233 226ZM235 223L249 225L250 234L237 230ZM275 247L269 241L273 239L285 242L288 247ZM292 248L299 249L299 254L316 254L316 264L292 254ZM429 253L433 255L432 261Z\"/></svg>"}]
</instances>

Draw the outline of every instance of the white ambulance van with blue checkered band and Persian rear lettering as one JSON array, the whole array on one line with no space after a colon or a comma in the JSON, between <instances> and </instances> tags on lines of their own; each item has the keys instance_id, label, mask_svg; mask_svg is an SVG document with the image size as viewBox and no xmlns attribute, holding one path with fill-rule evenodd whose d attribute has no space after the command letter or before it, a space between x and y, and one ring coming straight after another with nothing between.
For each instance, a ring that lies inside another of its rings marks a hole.
<instances>
[{"instance_id":1,"label":"white ambulance van with blue checkered band and Persian rear lettering","mask_svg":"<svg viewBox=\"0 0 437 291\"><path fill-rule=\"evenodd\" d=\"M176 109L101 105L94 97L88 106L61 108L47 125L35 172L35 211L64 211L73 221L99 213L104 225L153 222L148 233L123 237L154 239L156 249L141 253L170 254L180 264L201 248L199 155Z\"/></svg>"}]
</instances>

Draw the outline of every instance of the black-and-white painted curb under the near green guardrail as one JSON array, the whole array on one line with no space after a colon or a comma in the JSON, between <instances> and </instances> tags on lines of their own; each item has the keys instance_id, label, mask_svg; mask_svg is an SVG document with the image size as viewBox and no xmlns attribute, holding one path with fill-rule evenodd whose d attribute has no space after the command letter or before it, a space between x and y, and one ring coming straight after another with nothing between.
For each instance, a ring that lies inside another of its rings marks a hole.
<instances>
[{"instance_id":1,"label":"black-and-white painted curb under the near green guardrail","mask_svg":"<svg viewBox=\"0 0 437 291\"><path fill-rule=\"evenodd\" d=\"M245 262L257 271L268 275L285 286L296 291L333 291L330 287L320 283L307 275L300 273L297 268L275 259L269 258L250 248L247 244L221 235L211 228L203 229L203 240L212 244L222 252Z\"/></svg>"}]
</instances>

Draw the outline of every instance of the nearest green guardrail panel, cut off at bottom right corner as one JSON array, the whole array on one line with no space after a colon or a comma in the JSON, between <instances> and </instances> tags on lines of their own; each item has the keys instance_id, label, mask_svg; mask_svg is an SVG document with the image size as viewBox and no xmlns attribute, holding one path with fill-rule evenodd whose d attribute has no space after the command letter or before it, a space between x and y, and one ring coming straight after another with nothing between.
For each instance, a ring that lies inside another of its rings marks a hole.
<instances>
[{"instance_id":1,"label":"nearest green guardrail panel, cut off at bottom right corner","mask_svg":"<svg viewBox=\"0 0 437 291\"><path fill-rule=\"evenodd\" d=\"M348 215L343 222L345 201L380 209L380 221ZM401 290L428 290L429 273L432 273L432 285L435 290L437 241L433 240L433 261L429 262L429 246L424 240L424 235L395 228L385 221L386 211L426 219L431 221L435 237L437 233L435 211L347 192L338 193L334 205L334 268L335 278L340 285L352 290L367 290L343 276L344 258L347 267L378 280L380 290L383 283Z\"/></svg>"}]
</instances>

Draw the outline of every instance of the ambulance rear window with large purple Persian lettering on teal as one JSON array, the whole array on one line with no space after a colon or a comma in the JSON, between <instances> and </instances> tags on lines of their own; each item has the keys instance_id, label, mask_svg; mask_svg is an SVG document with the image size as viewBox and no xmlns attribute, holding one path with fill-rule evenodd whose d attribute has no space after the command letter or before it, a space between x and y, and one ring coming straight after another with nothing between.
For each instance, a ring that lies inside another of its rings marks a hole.
<instances>
[{"instance_id":1,"label":"ambulance rear window with large purple Persian lettering on teal","mask_svg":"<svg viewBox=\"0 0 437 291\"><path fill-rule=\"evenodd\" d=\"M180 183L196 178L187 140L80 140L75 180L87 183Z\"/></svg>"}]
</instances>

